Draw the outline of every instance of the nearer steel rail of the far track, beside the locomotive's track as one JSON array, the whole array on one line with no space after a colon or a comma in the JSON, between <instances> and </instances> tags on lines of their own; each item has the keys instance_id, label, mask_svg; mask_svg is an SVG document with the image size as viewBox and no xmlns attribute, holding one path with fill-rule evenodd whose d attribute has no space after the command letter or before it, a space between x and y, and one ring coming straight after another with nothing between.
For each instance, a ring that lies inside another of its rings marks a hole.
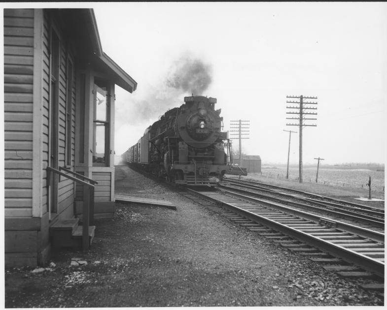
<instances>
[{"instance_id":1,"label":"nearer steel rail of the far track, beside the locomotive's track","mask_svg":"<svg viewBox=\"0 0 387 310\"><path fill-rule=\"evenodd\" d=\"M274 197L274 196L270 196L270 195L250 192L250 191L247 191L245 189L234 188L234 187L230 187L230 186L223 185L223 184L220 184L217 187L218 188L225 188L225 189L228 189L228 190L230 190L230 189L237 190L237 191L240 191L240 192L243 192L243 193L249 193L249 194L253 194L255 196L261 196L263 198L265 198L265 197L266 198L270 198L271 200L274 200L274 201L277 201L277 202L280 202L280 203L292 204L294 206L298 206L298 207L301 207L301 208L312 209L312 210L319 211L319 212L324 212L324 213L330 213L330 214L333 214L333 215L336 215L336 216L347 217L347 218L354 219L354 220L362 220L362 221L365 221L367 223L373 224L373 225L378 226L378 227L383 227L383 228L385 227L384 220L378 220L378 218L376 218L376 217L367 216L367 215L363 215L363 214L361 214L361 216L358 216L359 213L353 213L352 211L348 211L348 210L335 211L335 210L331 209L332 207L326 206L326 205L324 205L321 202L318 202L318 201L317 202L311 202L311 201L307 200L306 198L302 198L302 197L298 197L298 196L294 196L294 195L283 194L283 195L286 195L286 197L291 197L291 198L295 198L295 199L300 199L302 201L307 201L309 203L314 203L314 204L323 206L323 207L325 207L327 209L320 208L320 207L315 207L315 206L311 206L311 205L306 205L306 204L299 203L299 202L296 202L296 201L288 201L288 200L284 200L284 199L281 199L281 198L278 198L278 197ZM250 186L244 186L244 187L255 189L255 188L250 187ZM279 194L282 194L282 193L279 193ZM335 208L335 209L337 209L337 208ZM356 214L356 215L353 215L353 214Z\"/></svg>"}]
</instances>

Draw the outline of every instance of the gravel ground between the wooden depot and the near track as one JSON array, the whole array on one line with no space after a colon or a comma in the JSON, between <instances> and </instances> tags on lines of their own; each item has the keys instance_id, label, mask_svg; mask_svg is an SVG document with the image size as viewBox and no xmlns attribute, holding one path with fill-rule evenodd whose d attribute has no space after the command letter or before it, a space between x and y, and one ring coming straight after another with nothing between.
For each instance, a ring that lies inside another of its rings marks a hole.
<instances>
[{"instance_id":1,"label":"gravel ground between the wooden depot and the near track","mask_svg":"<svg viewBox=\"0 0 387 310\"><path fill-rule=\"evenodd\" d=\"M327 272L128 167L116 167L115 186L177 210L116 203L88 253L6 269L6 308L383 305L359 287L366 280Z\"/></svg>"}]
</instances>

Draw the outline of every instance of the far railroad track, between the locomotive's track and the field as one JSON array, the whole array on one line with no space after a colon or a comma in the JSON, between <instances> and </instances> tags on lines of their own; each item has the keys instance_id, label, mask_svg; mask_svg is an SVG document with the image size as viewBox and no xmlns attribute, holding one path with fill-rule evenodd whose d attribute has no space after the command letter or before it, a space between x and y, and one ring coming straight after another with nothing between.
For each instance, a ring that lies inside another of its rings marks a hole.
<instances>
[{"instance_id":1,"label":"far railroad track, between the locomotive's track and the field","mask_svg":"<svg viewBox=\"0 0 387 310\"><path fill-rule=\"evenodd\" d=\"M384 231L385 213L381 209L286 187L230 178L225 178L225 181L227 181L228 185L219 185L220 188L230 190L233 188L235 191L246 194L251 193L252 195L268 198L279 203L291 204L301 208L328 213L336 217L362 222L370 225L369 228L371 229L376 227Z\"/></svg>"}]
</instances>

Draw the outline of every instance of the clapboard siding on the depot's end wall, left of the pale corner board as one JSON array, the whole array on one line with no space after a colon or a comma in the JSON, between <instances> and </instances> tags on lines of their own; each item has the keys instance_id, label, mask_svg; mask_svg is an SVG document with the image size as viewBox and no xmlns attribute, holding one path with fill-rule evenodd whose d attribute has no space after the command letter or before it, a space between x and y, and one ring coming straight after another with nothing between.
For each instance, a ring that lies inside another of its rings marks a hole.
<instances>
[{"instance_id":1,"label":"clapboard siding on the depot's end wall, left of the pale corner board","mask_svg":"<svg viewBox=\"0 0 387 310\"><path fill-rule=\"evenodd\" d=\"M5 215L31 216L34 10L3 13Z\"/></svg>"}]
</instances>

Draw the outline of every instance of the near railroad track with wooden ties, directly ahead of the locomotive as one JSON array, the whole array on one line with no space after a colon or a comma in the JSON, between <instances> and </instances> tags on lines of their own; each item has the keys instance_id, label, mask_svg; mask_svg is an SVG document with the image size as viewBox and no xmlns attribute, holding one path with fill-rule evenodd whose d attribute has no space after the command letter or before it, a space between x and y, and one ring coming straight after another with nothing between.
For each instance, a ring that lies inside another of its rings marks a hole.
<instances>
[{"instance_id":1,"label":"near railroad track with wooden ties, directly ahead of the locomotive","mask_svg":"<svg viewBox=\"0 0 387 310\"><path fill-rule=\"evenodd\" d=\"M187 189L186 196L285 248L329 264L326 270L375 279L365 288L383 288L383 233L238 193Z\"/></svg>"}]
</instances>

